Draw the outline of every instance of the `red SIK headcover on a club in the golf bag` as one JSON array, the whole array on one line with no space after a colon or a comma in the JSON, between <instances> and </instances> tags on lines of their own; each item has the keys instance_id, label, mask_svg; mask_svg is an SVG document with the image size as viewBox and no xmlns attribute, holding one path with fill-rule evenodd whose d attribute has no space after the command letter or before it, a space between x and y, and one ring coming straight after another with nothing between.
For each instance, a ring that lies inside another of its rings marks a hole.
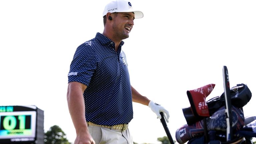
<instances>
[{"instance_id":1,"label":"red SIK headcover on a club in the golf bag","mask_svg":"<svg viewBox=\"0 0 256 144\"><path fill-rule=\"evenodd\" d=\"M195 116L210 116L205 99L212 92L214 87L215 84L208 84L198 89L187 91L191 109Z\"/></svg>"}]
</instances>

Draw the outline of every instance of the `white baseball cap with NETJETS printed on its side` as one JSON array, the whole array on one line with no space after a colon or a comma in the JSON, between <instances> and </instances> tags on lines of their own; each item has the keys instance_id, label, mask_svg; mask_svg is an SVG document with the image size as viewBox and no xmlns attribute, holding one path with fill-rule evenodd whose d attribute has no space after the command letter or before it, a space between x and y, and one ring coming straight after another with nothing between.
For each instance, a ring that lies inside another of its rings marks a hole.
<instances>
[{"instance_id":1,"label":"white baseball cap with NETJETS printed on its side","mask_svg":"<svg viewBox=\"0 0 256 144\"><path fill-rule=\"evenodd\" d=\"M114 12L133 12L135 18L142 18L143 13L141 11L133 10L132 4L127 0L113 0L105 6L103 11L103 17L108 13Z\"/></svg>"}]
</instances>

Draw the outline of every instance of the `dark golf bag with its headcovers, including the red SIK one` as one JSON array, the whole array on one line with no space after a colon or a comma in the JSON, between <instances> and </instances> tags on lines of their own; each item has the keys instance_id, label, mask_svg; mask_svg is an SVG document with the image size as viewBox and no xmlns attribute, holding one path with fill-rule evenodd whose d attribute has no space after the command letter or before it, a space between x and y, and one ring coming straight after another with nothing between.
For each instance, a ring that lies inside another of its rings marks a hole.
<instances>
[{"instance_id":1,"label":"dark golf bag with its headcovers, including the red SIK one","mask_svg":"<svg viewBox=\"0 0 256 144\"><path fill-rule=\"evenodd\" d=\"M227 122L224 93L205 101L215 84L208 84L187 91L190 107L183 108L187 124L176 130L179 144L252 144L256 137L256 117L244 117L243 106L251 99L251 91L245 84L230 89L232 139L227 141Z\"/></svg>"}]
</instances>

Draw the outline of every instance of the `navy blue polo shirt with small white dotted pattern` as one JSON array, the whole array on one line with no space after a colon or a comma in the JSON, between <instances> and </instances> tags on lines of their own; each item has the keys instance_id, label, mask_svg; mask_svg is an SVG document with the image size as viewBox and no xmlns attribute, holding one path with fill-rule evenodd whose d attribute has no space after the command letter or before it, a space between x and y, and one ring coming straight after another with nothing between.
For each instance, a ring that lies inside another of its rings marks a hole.
<instances>
[{"instance_id":1,"label":"navy blue polo shirt with small white dotted pattern","mask_svg":"<svg viewBox=\"0 0 256 144\"><path fill-rule=\"evenodd\" d=\"M81 44L74 54L68 82L87 85L84 91L86 121L99 125L129 123L133 118L131 84L124 42L115 43L101 33Z\"/></svg>"}]
</instances>

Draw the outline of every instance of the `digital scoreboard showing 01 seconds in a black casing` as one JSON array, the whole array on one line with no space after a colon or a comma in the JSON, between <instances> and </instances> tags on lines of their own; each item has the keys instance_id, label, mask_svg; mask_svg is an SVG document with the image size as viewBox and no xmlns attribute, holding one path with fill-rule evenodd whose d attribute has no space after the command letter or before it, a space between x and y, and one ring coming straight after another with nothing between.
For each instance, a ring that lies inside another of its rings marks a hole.
<instances>
[{"instance_id":1,"label":"digital scoreboard showing 01 seconds in a black casing","mask_svg":"<svg viewBox=\"0 0 256 144\"><path fill-rule=\"evenodd\" d=\"M43 119L36 106L0 106L0 144L43 144Z\"/></svg>"}]
</instances>

